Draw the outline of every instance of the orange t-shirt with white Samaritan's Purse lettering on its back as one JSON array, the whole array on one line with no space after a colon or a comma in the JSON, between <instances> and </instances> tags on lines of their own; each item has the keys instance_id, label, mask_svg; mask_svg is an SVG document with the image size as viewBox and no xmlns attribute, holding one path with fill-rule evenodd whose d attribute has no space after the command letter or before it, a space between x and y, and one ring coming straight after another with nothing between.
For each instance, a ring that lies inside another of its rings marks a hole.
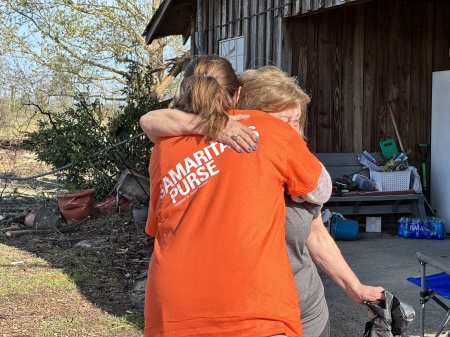
<instances>
[{"instance_id":1,"label":"orange t-shirt with white Samaritan's Purse lettering on its back","mask_svg":"<svg viewBox=\"0 0 450 337\"><path fill-rule=\"evenodd\" d=\"M144 336L302 336L284 239L284 187L311 192L319 161L292 127L260 111L242 121L258 150L201 136L160 139L150 160Z\"/></svg>"}]
</instances>

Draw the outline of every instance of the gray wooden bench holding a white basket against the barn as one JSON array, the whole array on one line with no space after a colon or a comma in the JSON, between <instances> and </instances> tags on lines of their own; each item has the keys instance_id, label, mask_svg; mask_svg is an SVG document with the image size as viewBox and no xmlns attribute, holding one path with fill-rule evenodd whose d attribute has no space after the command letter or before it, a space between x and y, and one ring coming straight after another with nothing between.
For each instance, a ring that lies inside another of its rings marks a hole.
<instances>
[{"instance_id":1,"label":"gray wooden bench holding a white basket against the barn","mask_svg":"<svg viewBox=\"0 0 450 337\"><path fill-rule=\"evenodd\" d=\"M364 169L355 153L315 153L330 173L331 179L346 175L351 178L354 173L369 176L369 169ZM425 199L423 194L414 190L406 191L353 191L342 195L333 194L324 205L332 212L343 215L361 214L408 214L424 217Z\"/></svg>"}]
</instances>

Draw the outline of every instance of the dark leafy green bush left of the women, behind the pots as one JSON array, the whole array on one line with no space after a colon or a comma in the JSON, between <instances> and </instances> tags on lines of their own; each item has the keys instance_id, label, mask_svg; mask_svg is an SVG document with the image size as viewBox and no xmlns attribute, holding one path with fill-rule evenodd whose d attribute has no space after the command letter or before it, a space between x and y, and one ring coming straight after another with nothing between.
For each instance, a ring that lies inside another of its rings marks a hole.
<instances>
[{"instance_id":1,"label":"dark leafy green bush left of the women, behind the pots","mask_svg":"<svg viewBox=\"0 0 450 337\"><path fill-rule=\"evenodd\" d=\"M147 173L153 146L147 137L112 145L141 133L139 118L159 107L149 95L150 74L150 69L130 67L124 89L126 105L114 118L108 119L99 100L86 94L79 94L74 106L64 112L41 111L47 118L38 121L38 131L28 134L34 143L31 150L39 161L54 168L71 164L57 173L67 189L94 188L96 199L101 200L113 192L125 169ZM102 151L106 148L111 149Z\"/></svg>"}]
</instances>

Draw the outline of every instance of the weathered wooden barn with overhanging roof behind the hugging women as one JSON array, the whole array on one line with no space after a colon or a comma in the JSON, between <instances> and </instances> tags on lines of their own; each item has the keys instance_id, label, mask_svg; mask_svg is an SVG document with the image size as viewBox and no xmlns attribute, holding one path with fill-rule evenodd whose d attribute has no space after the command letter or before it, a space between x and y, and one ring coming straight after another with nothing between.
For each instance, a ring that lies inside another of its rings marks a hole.
<instances>
[{"instance_id":1,"label":"weathered wooden barn with overhanging roof behind the hugging women","mask_svg":"<svg viewBox=\"0 0 450 337\"><path fill-rule=\"evenodd\" d=\"M237 72L275 64L311 96L312 152L379 152L395 139L418 169L432 73L450 69L443 0L164 0L144 35L183 35L191 55L227 57Z\"/></svg>"}]
</instances>

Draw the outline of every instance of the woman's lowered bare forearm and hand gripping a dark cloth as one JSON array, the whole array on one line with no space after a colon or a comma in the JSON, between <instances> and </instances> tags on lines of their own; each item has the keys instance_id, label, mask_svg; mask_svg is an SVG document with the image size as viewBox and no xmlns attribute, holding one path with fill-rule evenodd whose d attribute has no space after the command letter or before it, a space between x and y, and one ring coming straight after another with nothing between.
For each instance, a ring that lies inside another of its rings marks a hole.
<instances>
[{"instance_id":1,"label":"woman's lowered bare forearm and hand gripping a dark cloth","mask_svg":"<svg viewBox=\"0 0 450 337\"><path fill-rule=\"evenodd\" d=\"M306 241L306 246L317 266L330 276L353 301L363 304L364 301L384 298L382 287L367 286L359 281L327 232L321 216L312 222L311 234Z\"/></svg>"}]
</instances>

